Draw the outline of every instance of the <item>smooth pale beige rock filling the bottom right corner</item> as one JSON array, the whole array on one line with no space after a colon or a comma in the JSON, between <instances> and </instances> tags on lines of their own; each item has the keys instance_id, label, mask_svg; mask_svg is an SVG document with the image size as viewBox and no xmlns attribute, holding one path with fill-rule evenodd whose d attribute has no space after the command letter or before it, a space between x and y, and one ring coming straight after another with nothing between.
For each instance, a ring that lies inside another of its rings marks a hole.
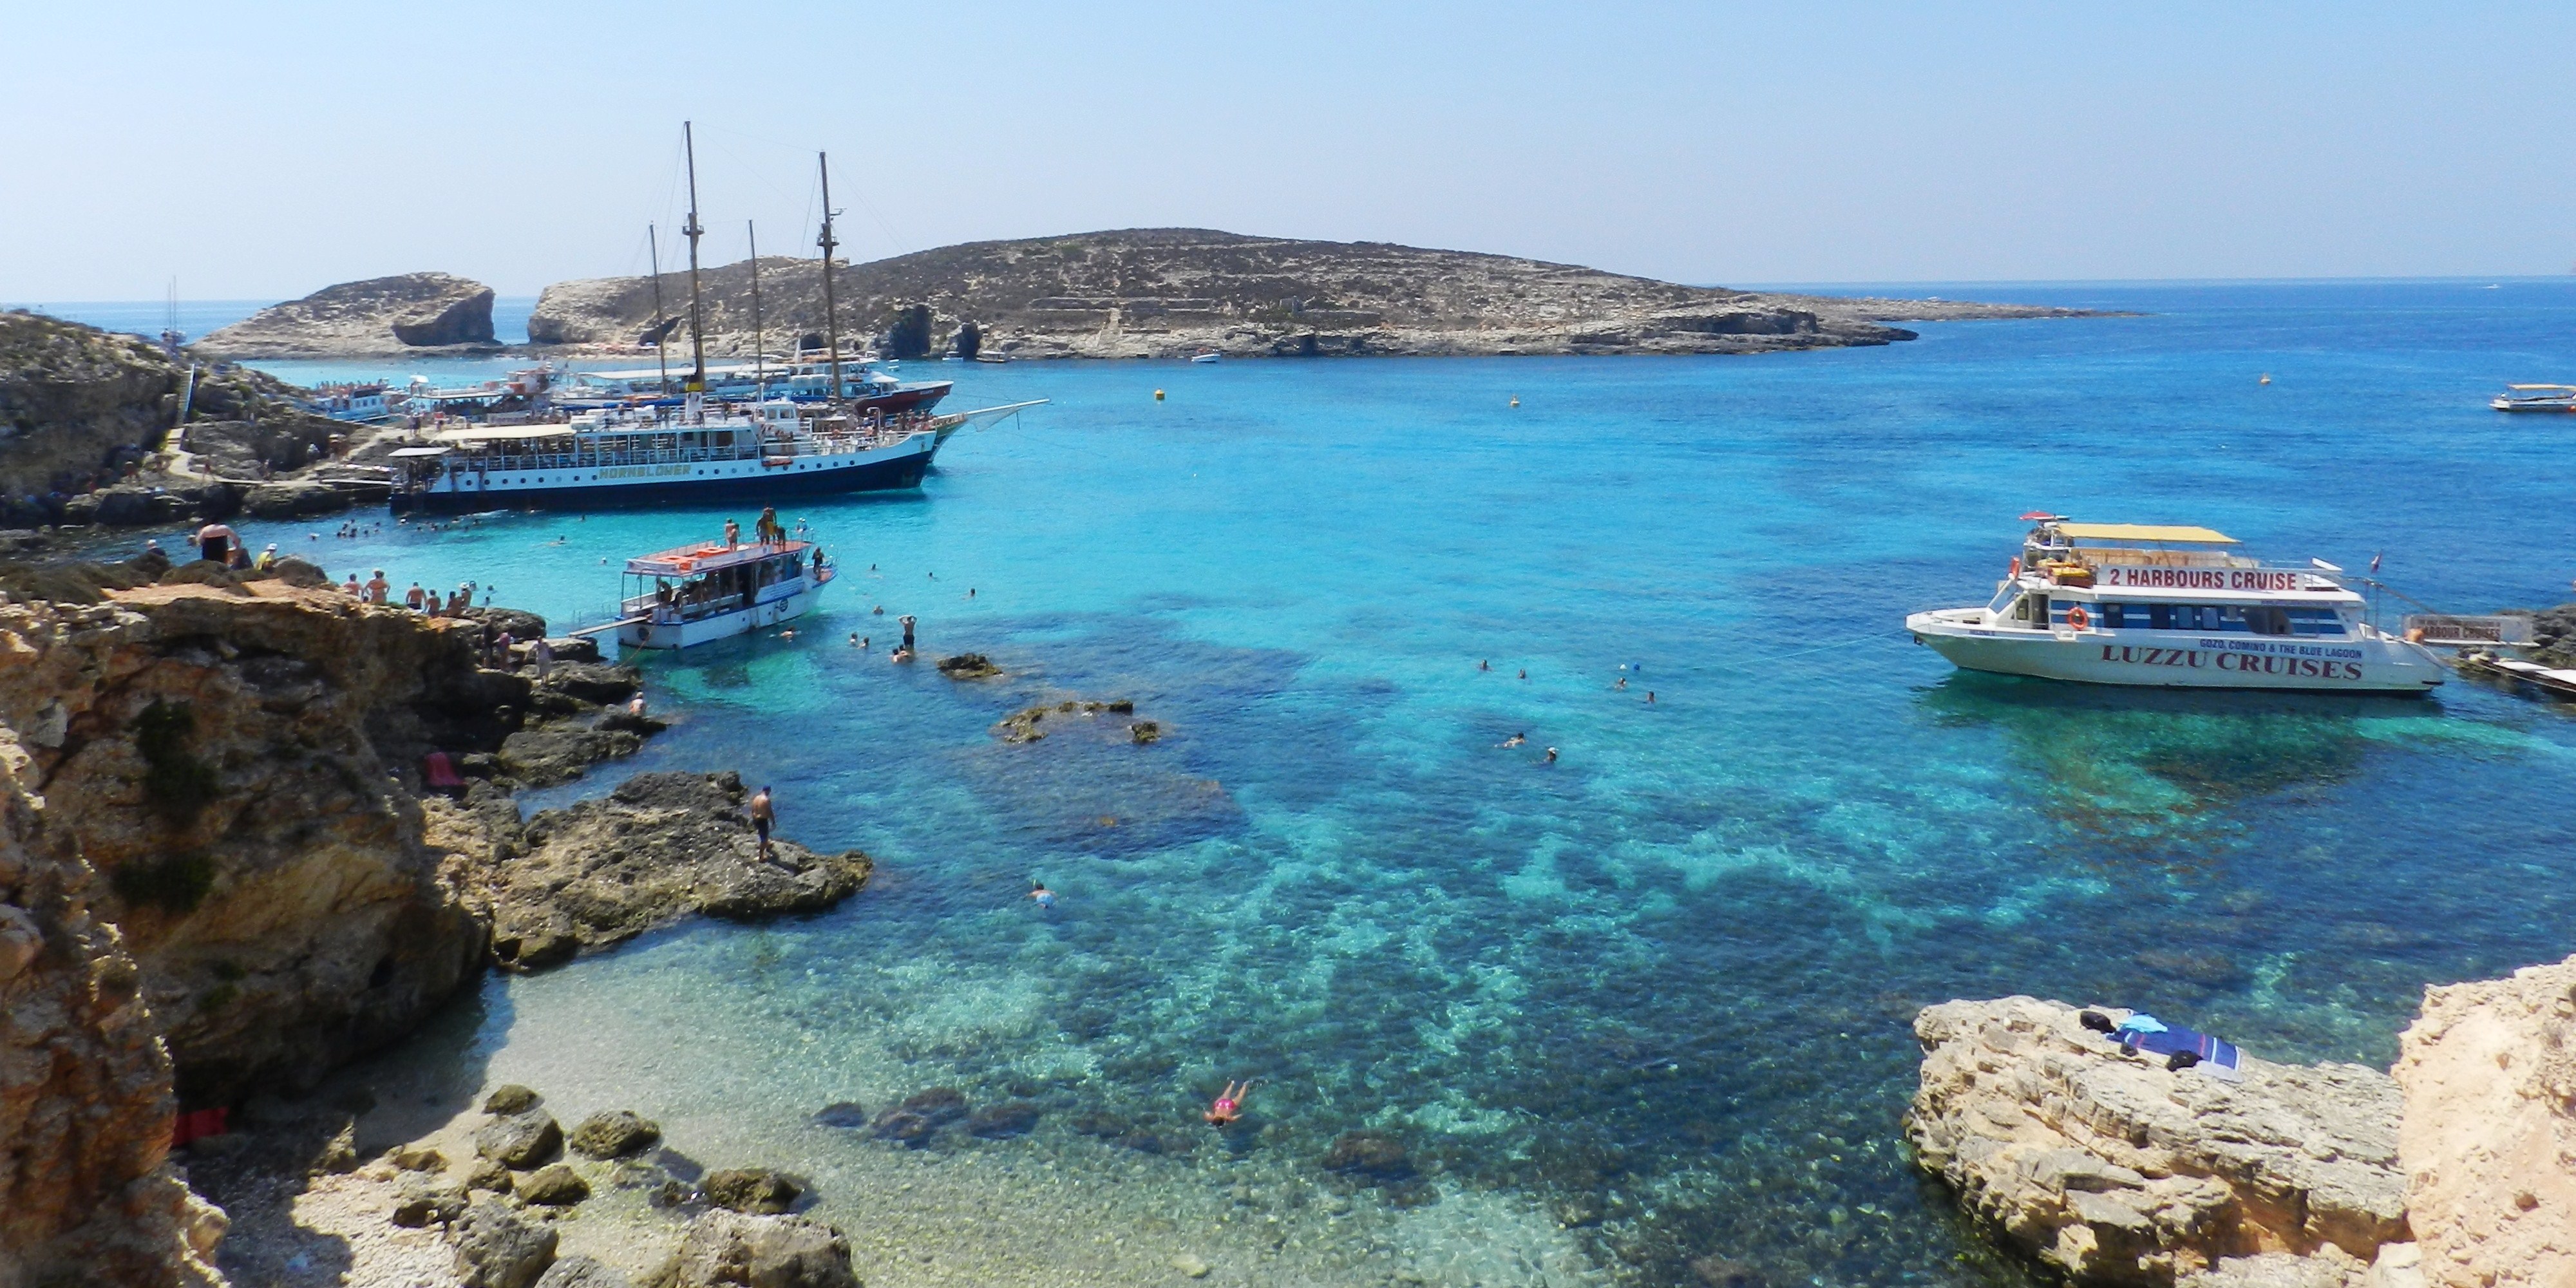
<instances>
[{"instance_id":1,"label":"smooth pale beige rock filling the bottom right corner","mask_svg":"<svg viewBox=\"0 0 2576 1288\"><path fill-rule=\"evenodd\" d=\"M2396 1079L2424 1278L2576 1283L2576 958L2424 989Z\"/></svg>"}]
</instances>

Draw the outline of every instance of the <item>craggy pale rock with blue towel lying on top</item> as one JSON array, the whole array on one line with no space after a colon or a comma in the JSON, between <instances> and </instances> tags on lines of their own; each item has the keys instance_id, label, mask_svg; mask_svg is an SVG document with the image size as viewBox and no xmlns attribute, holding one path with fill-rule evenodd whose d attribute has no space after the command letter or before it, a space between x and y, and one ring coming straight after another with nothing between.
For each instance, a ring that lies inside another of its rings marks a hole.
<instances>
[{"instance_id":1,"label":"craggy pale rock with blue towel lying on top","mask_svg":"<svg viewBox=\"0 0 2576 1288\"><path fill-rule=\"evenodd\" d=\"M2396 1079L2246 1059L2228 1084L2123 1056L2076 1015L2004 997L1914 1020L1922 1167L2040 1262L2076 1283L2342 1285L2406 1239Z\"/></svg>"}]
</instances>

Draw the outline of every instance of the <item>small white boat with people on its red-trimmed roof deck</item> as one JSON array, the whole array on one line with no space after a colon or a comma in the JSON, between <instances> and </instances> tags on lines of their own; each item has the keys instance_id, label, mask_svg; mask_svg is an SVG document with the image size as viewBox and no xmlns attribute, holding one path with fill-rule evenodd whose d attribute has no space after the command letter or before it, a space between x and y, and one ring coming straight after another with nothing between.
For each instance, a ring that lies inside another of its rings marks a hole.
<instances>
[{"instance_id":1,"label":"small white boat with people on its red-trimmed roof deck","mask_svg":"<svg viewBox=\"0 0 2576 1288\"><path fill-rule=\"evenodd\" d=\"M778 626L814 608L827 585L832 567L811 541L703 541L647 554L626 562L618 644L685 649Z\"/></svg>"}]
</instances>

